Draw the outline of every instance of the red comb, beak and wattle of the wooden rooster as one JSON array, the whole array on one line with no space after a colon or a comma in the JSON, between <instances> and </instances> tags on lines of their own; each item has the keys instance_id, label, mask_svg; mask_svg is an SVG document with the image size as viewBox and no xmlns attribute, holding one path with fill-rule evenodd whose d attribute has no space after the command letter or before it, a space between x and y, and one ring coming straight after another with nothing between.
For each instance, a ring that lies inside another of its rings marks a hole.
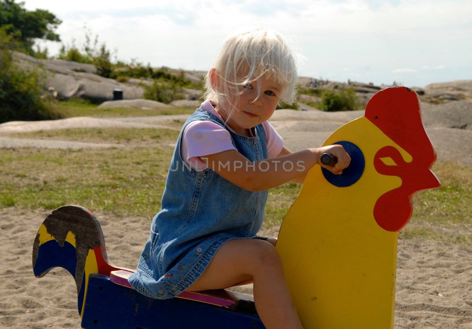
<instances>
[{"instance_id":1,"label":"red comb, beak and wattle of the wooden rooster","mask_svg":"<svg viewBox=\"0 0 472 329\"><path fill-rule=\"evenodd\" d=\"M430 170L436 152L424 130L418 95L409 88L388 88L377 93L367 104L365 117L413 158L406 162L392 146L382 147L374 156L378 173L402 179L400 187L377 200L374 218L385 230L399 231L412 215L413 193L440 186ZM387 165L381 158L390 158L395 165Z\"/></svg>"}]
</instances>

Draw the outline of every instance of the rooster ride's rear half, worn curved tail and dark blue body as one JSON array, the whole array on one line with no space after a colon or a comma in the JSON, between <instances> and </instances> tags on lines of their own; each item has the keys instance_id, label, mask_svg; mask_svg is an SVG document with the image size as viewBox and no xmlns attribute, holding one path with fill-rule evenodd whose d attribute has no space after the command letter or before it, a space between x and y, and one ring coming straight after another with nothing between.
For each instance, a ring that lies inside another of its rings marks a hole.
<instances>
[{"instance_id":1,"label":"rooster ride's rear half, worn curved tail and dark blue body","mask_svg":"<svg viewBox=\"0 0 472 329\"><path fill-rule=\"evenodd\" d=\"M129 270L108 262L100 224L80 206L54 210L38 230L34 275L42 277L55 267L66 268L74 277L78 312L86 329L264 328L250 296L215 291L159 300L112 282L112 273Z\"/></svg>"}]
</instances>

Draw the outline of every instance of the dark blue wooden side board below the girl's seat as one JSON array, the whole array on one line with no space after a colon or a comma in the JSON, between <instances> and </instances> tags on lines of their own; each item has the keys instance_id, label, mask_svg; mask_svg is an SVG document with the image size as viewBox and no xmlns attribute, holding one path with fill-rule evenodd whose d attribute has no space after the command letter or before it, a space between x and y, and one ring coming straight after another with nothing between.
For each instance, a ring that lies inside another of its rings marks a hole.
<instances>
[{"instance_id":1,"label":"dark blue wooden side board below the girl's seat","mask_svg":"<svg viewBox=\"0 0 472 329\"><path fill-rule=\"evenodd\" d=\"M82 327L86 329L263 329L258 316L183 298L153 299L101 274L89 276Z\"/></svg>"}]
</instances>

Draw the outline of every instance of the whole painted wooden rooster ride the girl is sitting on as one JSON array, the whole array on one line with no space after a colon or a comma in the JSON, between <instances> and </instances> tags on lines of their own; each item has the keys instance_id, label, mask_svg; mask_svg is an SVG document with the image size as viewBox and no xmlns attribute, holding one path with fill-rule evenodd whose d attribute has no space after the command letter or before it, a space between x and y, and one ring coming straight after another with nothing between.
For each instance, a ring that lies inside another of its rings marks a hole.
<instances>
[{"instance_id":1,"label":"whole painted wooden rooster ride the girl is sitting on","mask_svg":"<svg viewBox=\"0 0 472 329\"><path fill-rule=\"evenodd\" d=\"M393 328L398 231L413 193L437 188L436 153L416 93L375 94L359 119L324 145L341 144L351 165L341 175L319 166L285 216L276 248L305 329ZM83 328L264 328L253 299L227 290L158 300L127 282L133 270L107 261L100 224L79 206L54 210L33 247L36 277L51 268L74 277Z\"/></svg>"}]
</instances>

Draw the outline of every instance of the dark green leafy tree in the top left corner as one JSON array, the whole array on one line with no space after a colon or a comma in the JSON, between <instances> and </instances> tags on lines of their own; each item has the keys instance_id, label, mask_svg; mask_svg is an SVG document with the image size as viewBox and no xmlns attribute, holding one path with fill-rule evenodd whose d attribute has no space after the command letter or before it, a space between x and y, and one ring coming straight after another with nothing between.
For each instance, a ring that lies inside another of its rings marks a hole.
<instances>
[{"instance_id":1,"label":"dark green leafy tree in the top left corner","mask_svg":"<svg viewBox=\"0 0 472 329\"><path fill-rule=\"evenodd\" d=\"M29 55L34 55L34 39L60 41L54 33L62 21L48 10L28 11L23 8L25 2L0 0L0 26L8 26L8 35Z\"/></svg>"}]
</instances>

